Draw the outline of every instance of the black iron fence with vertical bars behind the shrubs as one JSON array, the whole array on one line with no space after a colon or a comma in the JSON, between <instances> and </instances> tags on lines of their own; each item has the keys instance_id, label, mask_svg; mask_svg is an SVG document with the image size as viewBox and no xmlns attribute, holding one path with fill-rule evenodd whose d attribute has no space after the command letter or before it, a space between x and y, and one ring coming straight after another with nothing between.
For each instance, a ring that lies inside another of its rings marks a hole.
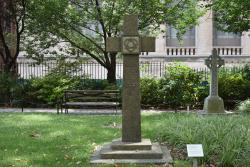
<instances>
[{"instance_id":1,"label":"black iron fence with vertical bars behind the shrubs","mask_svg":"<svg viewBox=\"0 0 250 167\"><path fill-rule=\"evenodd\" d=\"M160 78L165 74L166 67L169 65L167 62L140 62L140 76L141 77L157 77ZM3 71L3 64L0 64L0 71ZM60 70L61 72L70 73L72 76L86 76L90 79L106 79L107 70L98 63L85 62L82 64L67 66L58 65L55 62L46 62L43 64L37 63L17 63L18 75L24 79L31 79L34 77L44 77L53 70ZM226 71L240 71L242 67L227 67ZM206 67L198 68L194 67L193 70L201 72L204 78L209 76L209 69ZM116 64L116 78L122 79L123 77L123 64Z\"/></svg>"}]
</instances>

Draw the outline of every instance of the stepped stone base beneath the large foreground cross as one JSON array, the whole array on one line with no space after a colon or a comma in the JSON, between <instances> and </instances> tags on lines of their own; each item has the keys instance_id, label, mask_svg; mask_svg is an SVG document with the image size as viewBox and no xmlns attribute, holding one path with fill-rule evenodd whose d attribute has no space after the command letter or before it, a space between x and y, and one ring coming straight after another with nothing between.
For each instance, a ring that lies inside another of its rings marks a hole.
<instances>
[{"instance_id":1,"label":"stepped stone base beneath the large foreground cross","mask_svg":"<svg viewBox=\"0 0 250 167\"><path fill-rule=\"evenodd\" d=\"M115 149L114 149L115 148ZM151 143L149 139L141 142L122 142L121 139L105 144L98 148L91 157L90 163L94 164L169 164L173 162L166 146Z\"/></svg>"}]
</instances>

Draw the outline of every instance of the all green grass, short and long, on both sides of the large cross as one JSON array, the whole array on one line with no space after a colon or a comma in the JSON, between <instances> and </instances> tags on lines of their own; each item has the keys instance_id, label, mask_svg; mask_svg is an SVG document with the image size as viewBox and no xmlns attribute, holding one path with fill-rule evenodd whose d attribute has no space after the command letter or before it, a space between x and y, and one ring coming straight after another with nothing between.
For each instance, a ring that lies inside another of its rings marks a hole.
<instances>
[{"instance_id":1,"label":"all green grass, short and long, on both sides of the large cross","mask_svg":"<svg viewBox=\"0 0 250 167\"><path fill-rule=\"evenodd\" d=\"M173 149L173 166L189 166L185 144L202 143L205 157L200 163L247 167L250 166L249 118L248 115L143 115L142 134ZM109 126L113 121L120 123L121 117L0 113L0 167L114 166L89 164L98 145L121 136L120 129Z\"/></svg>"}]
</instances>

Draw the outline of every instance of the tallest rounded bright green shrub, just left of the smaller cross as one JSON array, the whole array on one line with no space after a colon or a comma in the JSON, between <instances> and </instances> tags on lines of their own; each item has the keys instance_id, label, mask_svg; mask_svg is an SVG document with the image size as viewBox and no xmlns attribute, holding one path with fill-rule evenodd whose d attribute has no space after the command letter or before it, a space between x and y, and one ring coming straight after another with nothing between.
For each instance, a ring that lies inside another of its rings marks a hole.
<instances>
[{"instance_id":1,"label":"tallest rounded bright green shrub, just left of the smaller cross","mask_svg":"<svg viewBox=\"0 0 250 167\"><path fill-rule=\"evenodd\" d=\"M173 63L160 80L160 94L166 105L177 110L195 104L202 75L188 66Z\"/></svg>"}]
</instances>

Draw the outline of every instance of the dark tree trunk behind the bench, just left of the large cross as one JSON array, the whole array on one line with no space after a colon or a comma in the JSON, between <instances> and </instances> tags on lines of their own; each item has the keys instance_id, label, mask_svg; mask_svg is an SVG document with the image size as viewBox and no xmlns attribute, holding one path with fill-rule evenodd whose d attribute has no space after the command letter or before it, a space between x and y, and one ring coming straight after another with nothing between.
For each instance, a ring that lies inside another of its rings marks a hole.
<instances>
[{"instance_id":1,"label":"dark tree trunk behind the bench, just left of the large cross","mask_svg":"<svg viewBox=\"0 0 250 167\"><path fill-rule=\"evenodd\" d=\"M107 68L107 80L111 84L116 84L116 54L110 54L110 66Z\"/></svg>"}]
</instances>

